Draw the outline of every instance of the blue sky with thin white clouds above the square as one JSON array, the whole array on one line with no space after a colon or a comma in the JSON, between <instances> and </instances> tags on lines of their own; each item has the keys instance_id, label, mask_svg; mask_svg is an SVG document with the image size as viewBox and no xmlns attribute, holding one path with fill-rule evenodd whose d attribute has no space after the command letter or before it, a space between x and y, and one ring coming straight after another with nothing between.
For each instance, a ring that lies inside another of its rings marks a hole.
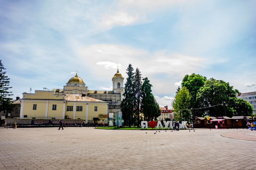
<instances>
[{"instance_id":1,"label":"blue sky with thin white clouds above the square","mask_svg":"<svg viewBox=\"0 0 256 170\"><path fill-rule=\"evenodd\" d=\"M13 98L80 77L112 90L132 64L171 107L185 75L256 91L255 0L0 0L0 60Z\"/></svg>"}]
</instances>

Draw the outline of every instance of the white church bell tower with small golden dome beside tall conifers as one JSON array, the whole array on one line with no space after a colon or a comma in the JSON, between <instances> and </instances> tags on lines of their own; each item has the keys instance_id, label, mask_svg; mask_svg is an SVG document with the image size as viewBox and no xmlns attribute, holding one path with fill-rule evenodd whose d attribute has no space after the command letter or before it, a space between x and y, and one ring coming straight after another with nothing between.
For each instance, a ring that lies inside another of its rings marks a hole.
<instances>
[{"instance_id":1,"label":"white church bell tower with small golden dome beside tall conifers","mask_svg":"<svg viewBox=\"0 0 256 170\"><path fill-rule=\"evenodd\" d=\"M119 73L117 67L117 73L112 78L113 82L113 91L114 93L121 93L121 101L123 100L124 93L124 77Z\"/></svg>"}]
</instances>

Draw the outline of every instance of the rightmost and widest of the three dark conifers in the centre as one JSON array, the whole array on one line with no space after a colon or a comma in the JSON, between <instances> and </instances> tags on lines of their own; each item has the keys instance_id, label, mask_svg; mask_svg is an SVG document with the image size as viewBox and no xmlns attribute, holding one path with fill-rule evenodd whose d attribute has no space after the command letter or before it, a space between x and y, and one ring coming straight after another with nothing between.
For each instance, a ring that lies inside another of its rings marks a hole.
<instances>
[{"instance_id":1,"label":"rightmost and widest of the three dark conifers in the centre","mask_svg":"<svg viewBox=\"0 0 256 170\"><path fill-rule=\"evenodd\" d=\"M141 110L144 114L144 121L152 121L158 114L157 103L155 102L155 97L151 93L152 85L149 83L150 81L147 77L144 78L143 81L141 86Z\"/></svg>"}]
</instances>

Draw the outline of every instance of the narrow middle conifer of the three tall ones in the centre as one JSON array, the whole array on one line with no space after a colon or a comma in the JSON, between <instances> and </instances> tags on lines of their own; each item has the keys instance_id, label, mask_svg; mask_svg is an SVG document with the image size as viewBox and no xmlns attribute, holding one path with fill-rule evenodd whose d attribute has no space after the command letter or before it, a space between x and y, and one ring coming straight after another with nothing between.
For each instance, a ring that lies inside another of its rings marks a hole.
<instances>
[{"instance_id":1,"label":"narrow middle conifer of the three tall ones in the centre","mask_svg":"<svg viewBox=\"0 0 256 170\"><path fill-rule=\"evenodd\" d=\"M141 94L141 85L142 85L142 81L141 81L141 74L140 74L140 70L137 68L135 71L135 75L134 75L134 95L135 95L135 119L137 119L137 126L140 127L140 107L141 107L141 98L142 98L142 94Z\"/></svg>"}]
</instances>

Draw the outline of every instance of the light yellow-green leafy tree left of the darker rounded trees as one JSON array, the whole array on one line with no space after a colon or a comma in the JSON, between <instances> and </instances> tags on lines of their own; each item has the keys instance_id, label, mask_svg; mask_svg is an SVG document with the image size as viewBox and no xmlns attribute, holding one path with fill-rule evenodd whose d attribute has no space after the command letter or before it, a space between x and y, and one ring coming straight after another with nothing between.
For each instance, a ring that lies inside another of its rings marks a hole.
<instances>
[{"instance_id":1,"label":"light yellow-green leafy tree left of the darker rounded trees","mask_svg":"<svg viewBox=\"0 0 256 170\"><path fill-rule=\"evenodd\" d=\"M190 100L189 90L186 87L180 88L172 102L175 120L190 120L190 111L188 110L190 109Z\"/></svg>"}]
</instances>

